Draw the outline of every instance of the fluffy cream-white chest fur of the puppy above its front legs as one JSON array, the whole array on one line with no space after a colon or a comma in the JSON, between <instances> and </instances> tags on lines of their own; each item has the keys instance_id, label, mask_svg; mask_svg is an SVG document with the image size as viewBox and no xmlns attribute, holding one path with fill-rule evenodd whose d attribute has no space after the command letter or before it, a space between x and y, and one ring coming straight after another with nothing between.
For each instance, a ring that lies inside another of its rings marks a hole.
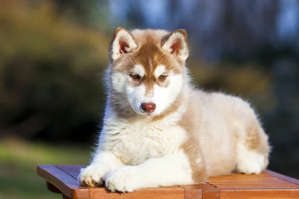
<instances>
[{"instance_id":1,"label":"fluffy cream-white chest fur of the puppy above its front legs","mask_svg":"<svg viewBox=\"0 0 299 199\"><path fill-rule=\"evenodd\" d=\"M171 154L186 137L180 126L161 123L133 123L114 130L112 136L106 136L105 145L127 165Z\"/></svg>"}]
</instances>

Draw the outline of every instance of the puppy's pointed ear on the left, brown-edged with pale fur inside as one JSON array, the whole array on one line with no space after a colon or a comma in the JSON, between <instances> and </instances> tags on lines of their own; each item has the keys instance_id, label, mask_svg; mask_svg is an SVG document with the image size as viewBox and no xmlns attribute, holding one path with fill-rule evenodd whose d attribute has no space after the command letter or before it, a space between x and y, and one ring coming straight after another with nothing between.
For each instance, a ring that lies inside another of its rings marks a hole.
<instances>
[{"instance_id":1,"label":"puppy's pointed ear on the left, brown-edged with pale fur inside","mask_svg":"<svg viewBox=\"0 0 299 199\"><path fill-rule=\"evenodd\" d=\"M116 28L109 50L110 59L116 60L135 48L137 48L137 44L133 35L125 28Z\"/></svg>"}]
</instances>

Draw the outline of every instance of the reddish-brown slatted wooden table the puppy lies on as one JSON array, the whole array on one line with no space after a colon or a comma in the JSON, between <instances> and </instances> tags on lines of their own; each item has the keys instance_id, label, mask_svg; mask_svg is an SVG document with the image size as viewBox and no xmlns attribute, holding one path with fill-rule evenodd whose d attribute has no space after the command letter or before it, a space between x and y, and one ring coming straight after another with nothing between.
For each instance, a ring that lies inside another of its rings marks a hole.
<instances>
[{"instance_id":1,"label":"reddish-brown slatted wooden table the puppy lies on","mask_svg":"<svg viewBox=\"0 0 299 199\"><path fill-rule=\"evenodd\" d=\"M231 174L208 178L206 184L109 193L105 188L80 186L86 165L40 165L37 174L63 199L299 199L299 180L266 170L259 175Z\"/></svg>"}]
</instances>

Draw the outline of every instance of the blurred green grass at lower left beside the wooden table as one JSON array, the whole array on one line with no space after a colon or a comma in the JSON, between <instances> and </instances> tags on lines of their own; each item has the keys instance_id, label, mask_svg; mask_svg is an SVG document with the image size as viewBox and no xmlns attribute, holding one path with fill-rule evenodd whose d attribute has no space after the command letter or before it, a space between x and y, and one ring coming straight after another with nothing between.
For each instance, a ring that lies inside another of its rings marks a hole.
<instances>
[{"instance_id":1,"label":"blurred green grass at lower left beside the wooden table","mask_svg":"<svg viewBox=\"0 0 299 199\"><path fill-rule=\"evenodd\" d=\"M0 199L61 199L36 174L41 164L88 164L91 148L0 140Z\"/></svg>"}]
</instances>

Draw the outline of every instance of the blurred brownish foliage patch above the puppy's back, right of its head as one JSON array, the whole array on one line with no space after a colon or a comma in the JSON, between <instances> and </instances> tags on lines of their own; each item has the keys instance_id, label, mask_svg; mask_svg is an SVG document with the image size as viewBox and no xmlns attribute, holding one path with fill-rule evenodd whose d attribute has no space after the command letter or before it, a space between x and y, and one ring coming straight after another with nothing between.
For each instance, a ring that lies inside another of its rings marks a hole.
<instances>
[{"instance_id":1,"label":"blurred brownish foliage patch above the puppy's back, right of its head","mask_svg":"<svg viewBox=\"0 0 299 199\"><path fill-rule=\"evenodd\" d=\"M275 99L270 90L269 72L254 62L198 65L196 61L191 60L188 65L192 77L200 85L200 88L250 99L258 112L275 107Z\"/></svg>"}]
</instances>

